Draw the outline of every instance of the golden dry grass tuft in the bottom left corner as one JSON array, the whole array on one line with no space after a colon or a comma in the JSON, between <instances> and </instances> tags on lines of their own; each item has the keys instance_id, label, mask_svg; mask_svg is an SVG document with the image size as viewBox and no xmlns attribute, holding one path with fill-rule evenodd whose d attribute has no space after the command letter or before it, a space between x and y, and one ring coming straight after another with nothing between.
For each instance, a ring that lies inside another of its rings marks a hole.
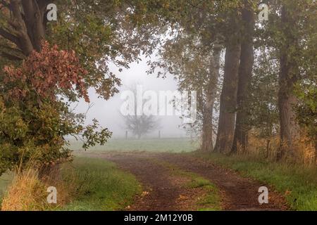
<instances>
[{"instance_id":1,"label":"golden dry grass tuft in the bottom left corner","mask_svg":"<svg viewBox=\"0 0 317 225\"><path fill-rule=\"evenodd\" d=\"M70 177L68 177L70 178ZM3 211L42 211L54 210L66 205L71 200L71 193L75 188L73 182L63 181L59 167L53 167L39 176L37 169L25 169L16 172L11 186L8 187L6 195L1 204ZM49 186L58 190L57 204L47 203L46 192Z\"/></svg>"}]
</instances>

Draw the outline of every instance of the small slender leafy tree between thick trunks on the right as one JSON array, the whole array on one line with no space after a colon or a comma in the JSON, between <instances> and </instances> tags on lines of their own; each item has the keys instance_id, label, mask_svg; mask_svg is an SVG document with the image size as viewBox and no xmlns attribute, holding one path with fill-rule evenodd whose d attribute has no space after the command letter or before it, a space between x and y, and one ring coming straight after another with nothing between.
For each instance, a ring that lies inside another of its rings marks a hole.
<instances>
[{"instance_id":1,"label":"small slender leafy tree between thick trunks on the right","mask_svg":"<svg viewBox=\"0 0 317 225\"><path fill-rule=\"evenodd\" d=\"M279 136L278 60L275 49L257 46L255 66L249 87L249 116L245 121L251 134L266 140L266 158L270 155L271 141ZM263 146L264 147L264 146Z\"/></svg>"}]
</instances>

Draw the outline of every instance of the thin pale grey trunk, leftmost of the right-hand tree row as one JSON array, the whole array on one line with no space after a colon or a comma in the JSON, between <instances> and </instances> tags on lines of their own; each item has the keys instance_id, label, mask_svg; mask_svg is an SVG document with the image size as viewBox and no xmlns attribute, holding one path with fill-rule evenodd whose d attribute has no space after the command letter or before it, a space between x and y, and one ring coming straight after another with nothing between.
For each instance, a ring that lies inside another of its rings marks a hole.
<instances>
[{"instance_id":1,"label":"thin pale grey trunk, leftmost of the right-hand tree row","mask_svg":"<svg viewBox=\"0 0 317 225\"><path fill-rule=\"evenodd\" d=\"M221 48L215 44L211 65L209 67L209 82L206 91L206 103L203 109L203 128L201 151L211 152L213 150L213 105L216 101L217 84L219 79Z\"/></svg>"}]
</instances>

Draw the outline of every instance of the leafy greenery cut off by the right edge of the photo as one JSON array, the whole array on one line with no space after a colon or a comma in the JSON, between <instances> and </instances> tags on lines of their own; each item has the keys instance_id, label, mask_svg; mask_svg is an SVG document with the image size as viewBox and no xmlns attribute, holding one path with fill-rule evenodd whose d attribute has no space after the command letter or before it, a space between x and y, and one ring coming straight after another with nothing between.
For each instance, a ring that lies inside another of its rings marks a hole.
<instances>
[{"instance_id":1,"label":"leafy greenery cut off by the right edge of the photo","mask_svg":"<svg viewBox=\"0 0 317 225\"><path fill-rule=\"evenodd\" d=\"M317 15L316 3L306 8L304 47L300 58L302 79L294 87L294 94L299 99L299 104L295 107L297 121L304 135L309 137L311 143L315 143L315 159L317 163ZM313 5L315 4L315 5Z\"/></svg>"}]
</instances>

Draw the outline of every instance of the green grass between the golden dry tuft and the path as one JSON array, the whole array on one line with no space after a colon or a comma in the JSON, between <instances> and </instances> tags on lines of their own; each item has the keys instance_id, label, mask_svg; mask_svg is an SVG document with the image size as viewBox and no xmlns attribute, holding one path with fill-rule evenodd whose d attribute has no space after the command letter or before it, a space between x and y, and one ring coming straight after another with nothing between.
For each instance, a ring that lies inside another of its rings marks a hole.
<instances>
[{"instance_id":1,"label":"green grass between the golden dry tuft and the path","mask_svg":"<svg viewBox=\"0 0 317 225\"><path fill-rule=\"evenodd\" d=\"M65 167L62 174L66 181L72 180L68 178L75 174L76 195L62 210L123 210L141 193L135 176L121 171L112 162L75 158L72 167L72 173Z\"/></svg>"}]
</instances>

